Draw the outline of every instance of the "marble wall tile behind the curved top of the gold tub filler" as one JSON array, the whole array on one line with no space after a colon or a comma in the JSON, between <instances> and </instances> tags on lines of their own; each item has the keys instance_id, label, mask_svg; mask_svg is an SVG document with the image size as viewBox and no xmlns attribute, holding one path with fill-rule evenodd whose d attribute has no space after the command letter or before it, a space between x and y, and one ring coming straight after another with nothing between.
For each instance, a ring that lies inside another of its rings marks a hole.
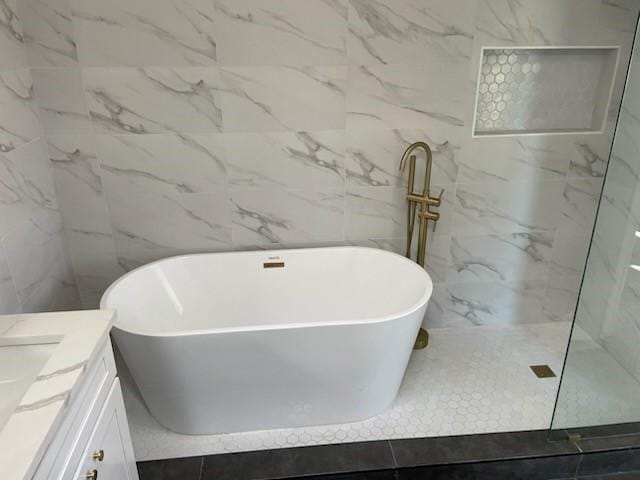
<instances>
[{"instance_id":1,"label":"marble wall tile behind the curved top of the gold tub filler","mask_svg":"<svg viewBox=\"0 0 640 480\"><path fill-rule=\"evenodd\" d=\"M349 129L347 130L347 182L350 185L403 187L407 185L409 168L401 171L400 159L409 144L423 141L433 155L431 182L454 183L462 150L462 128L427 129ZM424 188L425 160L416 150L415 188Z\"/></svg>"}]
</instances>

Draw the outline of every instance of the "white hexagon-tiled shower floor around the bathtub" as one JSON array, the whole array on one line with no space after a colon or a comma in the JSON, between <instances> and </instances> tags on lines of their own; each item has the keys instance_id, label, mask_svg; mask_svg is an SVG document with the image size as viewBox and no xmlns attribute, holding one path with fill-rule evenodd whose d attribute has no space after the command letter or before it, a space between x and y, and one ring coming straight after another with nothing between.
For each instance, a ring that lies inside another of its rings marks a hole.
<instances>
[{"instance_id":1,"label":"white hexagon-tiled shower floor around the bathtub","mask_svg":"<svg viewBox=\"0 0 640 480\"><path fill-rule=\"evenodd\" d=\"M548 428L558 378L538 379L529 365L548 364L559 375L568 331L568 323L433 329L429 347L414 352L393 406L342 425L179 435L155 422L124 375L136 458Z\"/></svg>"}]
</instances>

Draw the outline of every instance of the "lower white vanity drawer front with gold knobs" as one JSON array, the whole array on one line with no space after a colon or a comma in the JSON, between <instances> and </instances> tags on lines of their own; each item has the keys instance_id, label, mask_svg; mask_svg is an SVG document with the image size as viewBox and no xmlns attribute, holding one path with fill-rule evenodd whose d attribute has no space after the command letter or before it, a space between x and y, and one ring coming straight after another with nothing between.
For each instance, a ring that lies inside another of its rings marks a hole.
<instances>
[{"instance_id":1,"label":"lower white vanity drawer front with gold knobs","mask_svg":"<svg viewBox=\"0 0 640 480\"><path fill-rule=\"evenodd\" d=\"M64 477L67 480L67 477ZM122 401L120 379L116 378L87 447L82 453L74 480L138 480L129 435L127 415Z\"/></svg>"}]
</instances>

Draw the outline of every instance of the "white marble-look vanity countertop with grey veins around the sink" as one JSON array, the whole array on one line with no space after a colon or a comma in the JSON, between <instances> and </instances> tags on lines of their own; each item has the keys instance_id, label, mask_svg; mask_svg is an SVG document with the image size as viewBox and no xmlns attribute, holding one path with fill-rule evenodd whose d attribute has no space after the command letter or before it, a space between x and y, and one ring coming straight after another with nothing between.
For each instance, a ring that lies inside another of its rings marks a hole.
<instances>
[{"instance_id":1,"label":"white marble-look vanity countertop with grey veins around the sink","mask_svg":"<svg viewBox=\"0 0 640 480\"><path fill-rule=\"evenodd\" d=\"M110 310L0 316L0 345L56 344L0 430L0 479L33 476L114 318Z\"/></svg>"}]
</instances>

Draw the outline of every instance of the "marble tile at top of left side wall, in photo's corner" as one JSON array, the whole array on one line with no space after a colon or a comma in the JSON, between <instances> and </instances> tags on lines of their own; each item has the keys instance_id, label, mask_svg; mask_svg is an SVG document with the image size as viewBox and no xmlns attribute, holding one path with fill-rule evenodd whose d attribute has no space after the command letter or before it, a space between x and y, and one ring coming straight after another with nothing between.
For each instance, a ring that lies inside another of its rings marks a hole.
<instances>
[{"instance_id":1,"label":"marble tile at top of left side wall, in photo's corner","mask_svg":"<svg viewBox=\"0 0 640 480\"><path fill-rule=\"evenodd\" d=\"M27 65L18 1L0 1L0 72L24 68Z\"/></svg>"}]
</instances>

